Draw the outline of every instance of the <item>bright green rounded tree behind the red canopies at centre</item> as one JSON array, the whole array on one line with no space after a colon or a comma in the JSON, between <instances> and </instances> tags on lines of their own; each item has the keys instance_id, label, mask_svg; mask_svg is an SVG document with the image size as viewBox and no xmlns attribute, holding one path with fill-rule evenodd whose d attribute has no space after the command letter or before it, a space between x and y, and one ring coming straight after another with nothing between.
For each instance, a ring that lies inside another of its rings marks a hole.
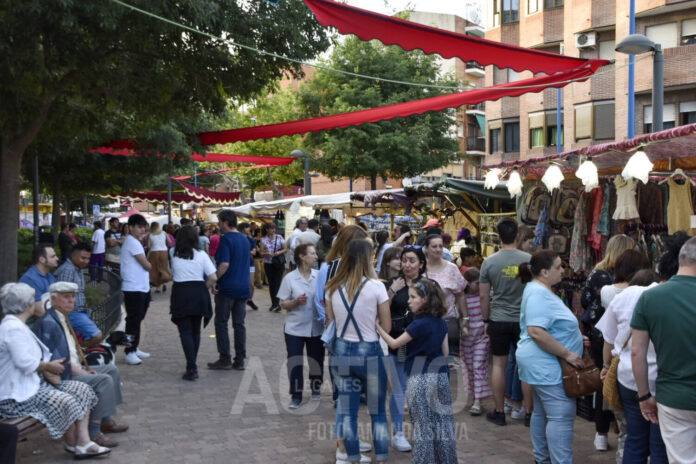
<instances>
[{"instance_id":1,"label":"bright green rounded tree behind the red canopies at centre","mask_svg":"<svg viewBox=\"0 0 696 464\"><path fill-rule=\"evenodd\" d=\"M338 44L328 62L331 68L386 79L423 84L457 85L451 76L438 77L438 58L405 51L378 41L348 37ZM402 103L441 95L443 91L317 71L300 88L307 116ZM332 179L378 176L409 177L447 164L455 157L457 141L451 133L454 111L430 112L373 124L310 134L314 167Z\"/></svg>"}]
</instances>

